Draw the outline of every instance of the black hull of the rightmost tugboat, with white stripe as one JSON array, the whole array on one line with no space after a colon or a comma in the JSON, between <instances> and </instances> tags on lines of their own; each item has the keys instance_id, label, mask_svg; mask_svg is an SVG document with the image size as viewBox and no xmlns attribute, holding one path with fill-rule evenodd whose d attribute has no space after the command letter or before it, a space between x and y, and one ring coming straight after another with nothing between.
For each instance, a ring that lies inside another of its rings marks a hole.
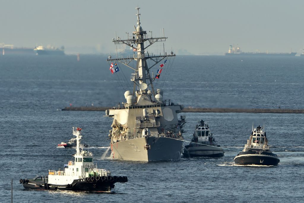
<instances>
[{"instance_id":1,"label":"black hull of the rightmost tugboat, with white stripe","mask_svg":"<svg viewBox=\"0 0 304 203\"><path fill-rule=\"evenodd\" d=\"M239 154L234 159L237 165L278 166L280 159L275 154Z\"/></svg>"}]
</instances>

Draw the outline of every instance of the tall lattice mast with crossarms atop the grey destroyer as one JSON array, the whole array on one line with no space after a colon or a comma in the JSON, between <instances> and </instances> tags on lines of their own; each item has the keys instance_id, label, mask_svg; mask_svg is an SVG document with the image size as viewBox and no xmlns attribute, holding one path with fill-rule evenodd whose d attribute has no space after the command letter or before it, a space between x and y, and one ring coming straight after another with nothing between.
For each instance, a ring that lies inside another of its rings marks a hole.
<instances>
[{"instance_id":1,"label":"tall lattice mast with crossarms atop the grey destroyer","mask_svg":"<svg viewBox=\"0 0 304 203\"><path fill-rule=\"evenodd\" d=\"M145 53L145 49L149 47L150 45L154 44L157 41L165 41L167 37L155 37L153 38L152 35L150 37L147 36L147 31L144 31L143 28L140 26L140 13L139 9L137 9L137 27L134 26L135 31L133 32L133 36L128 35L127 40L122 40L120 37L116 37L116 39L113 39L113 42L115 44L126 44L129 47L133 48L133 51L137 50L137 54L133 54L133 57L126 57L126 58L108 58L107 61L119 61L122 64L128 66L129 68L133 69L135 73L131 76L131 81L134 82L133 86L133 96L135 96L136 86L139 87L140 93L145 94L147 87L151 87L153 96L155 96L153 81L154 77L150 74L150 69L154 67L154 65L158 64L161 60L163 60L166 57L172 57L175 56L173 52L171 54L164 54L164 55L155 55L153 53ZM144 42L148 41L150 44L148 44L146 47L144 47ZM150 67L147 65L147 59L151 59L154 61L154 64ZM133 68L129 65L129 63L135 60L136 62L136 68ZM141 85L143 84L143 85ZM145 85L147 84L147 86ZM145 88L146 87L146 88Z\"/></svg>"}]
</instances>

